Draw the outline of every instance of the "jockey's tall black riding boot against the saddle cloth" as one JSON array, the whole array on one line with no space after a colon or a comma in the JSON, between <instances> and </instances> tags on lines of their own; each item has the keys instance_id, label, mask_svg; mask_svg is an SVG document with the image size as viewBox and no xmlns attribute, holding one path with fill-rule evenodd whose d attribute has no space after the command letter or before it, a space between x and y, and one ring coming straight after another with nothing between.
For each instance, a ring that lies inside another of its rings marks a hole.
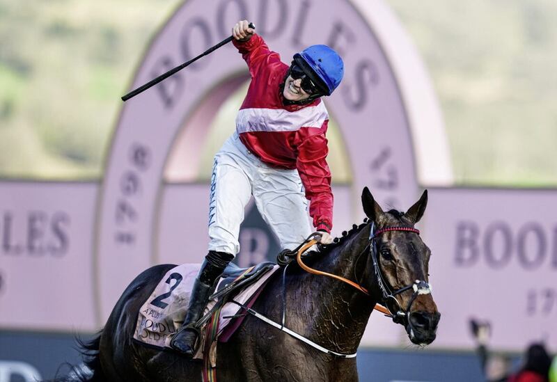
<instances>
[{"instance_id":1,"label":"jockey's tall black riding boot against the saddle cloth","mask_svg":"<svg viewBox=\"0 0 557 382\"><path fill-rule=\"evenodd\" d=\"M194 287L191 289L186 318L182 328L170 342L173 349L189 358L194 356L197 338L199 337L200 328L196 326L197 321L203 315L203 310L205 310L205 305L207 305L209 297L214 291L216 281L233 258L234 256L230 253L210 250L205 256L205 261L201 264Z\"/></svg>"}]
</instances>

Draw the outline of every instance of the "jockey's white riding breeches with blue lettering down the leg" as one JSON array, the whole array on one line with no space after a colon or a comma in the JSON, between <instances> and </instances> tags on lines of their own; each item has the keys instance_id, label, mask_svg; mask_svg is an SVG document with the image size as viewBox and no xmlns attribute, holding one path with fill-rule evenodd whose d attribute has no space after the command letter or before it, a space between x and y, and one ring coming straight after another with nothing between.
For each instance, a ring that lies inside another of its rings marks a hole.
<instances>
[{"instance_id":1,"label":"jockey's white riding breeches with blue lettering down the leg","mask_svg":"<svg viewBox=\"0 0 557 382\"><path fill-rule=\"evenodd\" d=\"M282 249L296 248L311 234L298 170L272 168L251 154L237 133L214 157L209 201L209 250L236 255L244 209L251 196Z\"/></svg>"}]
</instances>

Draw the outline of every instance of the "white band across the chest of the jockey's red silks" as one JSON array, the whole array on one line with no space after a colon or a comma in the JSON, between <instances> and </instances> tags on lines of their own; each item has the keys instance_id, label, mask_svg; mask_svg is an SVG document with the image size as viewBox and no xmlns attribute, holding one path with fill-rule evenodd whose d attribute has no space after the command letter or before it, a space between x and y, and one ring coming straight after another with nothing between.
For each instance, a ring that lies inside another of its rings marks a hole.
<instances>
[{"instance_id":1,"label":"white band across the chest of the jockey's red silks","mask_svg":"<svg viewBox=\"0 0 557 382\"><path fill-rule=\"evenodd\" d=\"M323 102L297 111L284 109L241 109L236 116L236 130L246 132L295 132L300 127L320 128L329 113Z\"/></svg>"}]
</instances>

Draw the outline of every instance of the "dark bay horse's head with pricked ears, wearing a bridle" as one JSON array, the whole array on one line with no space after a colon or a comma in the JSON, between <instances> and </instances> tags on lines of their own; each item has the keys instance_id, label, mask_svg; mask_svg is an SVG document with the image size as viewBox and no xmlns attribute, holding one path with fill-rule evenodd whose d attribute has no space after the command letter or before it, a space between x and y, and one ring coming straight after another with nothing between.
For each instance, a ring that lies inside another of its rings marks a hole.
<instances>
[{"instance_id":1,"label":"dark bay horse's head with pricked ears, wearing a bridle","mask_svg":"<svg viewBox=\"0 0 557 382\"><path fill-rule=\"evenodd\" d=\"M405 326L411 342L430 344L441 315L427 273L431 251L414 228L425 211L427 190L405 213L383 212L367 187L361 198L372 225L366 269L370 292Z\"/></svg>"}]
</instances>

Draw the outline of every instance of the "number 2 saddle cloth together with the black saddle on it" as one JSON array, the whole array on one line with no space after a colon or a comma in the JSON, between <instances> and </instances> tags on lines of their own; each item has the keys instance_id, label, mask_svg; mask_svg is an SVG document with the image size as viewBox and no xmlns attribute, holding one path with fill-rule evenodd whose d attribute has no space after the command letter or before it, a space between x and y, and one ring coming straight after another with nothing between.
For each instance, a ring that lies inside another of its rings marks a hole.
<instances>
[{"instance_id":1,"label":"number 2 saddle cloth together with the black saddle on it","mask_svg":"<svg viewBox=\"0 0 557 382\"><path fill-rule=\"evenodd\" d=\"M166 272L155 290L143 303L137 317L134 340L154 347L170 347L171 336L182 326L186 316L191 288L201 264L182 264ZM242 305L251 305L258 292L269 280L278 265L261 263L247 269L240 269L230 264L217 285L217 292L205 308L204 315L212 310L219 301L228 301L230 294ZM219 304L220 305L220 304ZM236 303L224 303L218 323L217 336L223 333L240 306ZM237 325L235 325L237 327ZM201 333L204 331L202 330ZM230 337L230 330L226 337ZM201 357L201 351L195 358Z\"/></svg>"}]
</instances>

